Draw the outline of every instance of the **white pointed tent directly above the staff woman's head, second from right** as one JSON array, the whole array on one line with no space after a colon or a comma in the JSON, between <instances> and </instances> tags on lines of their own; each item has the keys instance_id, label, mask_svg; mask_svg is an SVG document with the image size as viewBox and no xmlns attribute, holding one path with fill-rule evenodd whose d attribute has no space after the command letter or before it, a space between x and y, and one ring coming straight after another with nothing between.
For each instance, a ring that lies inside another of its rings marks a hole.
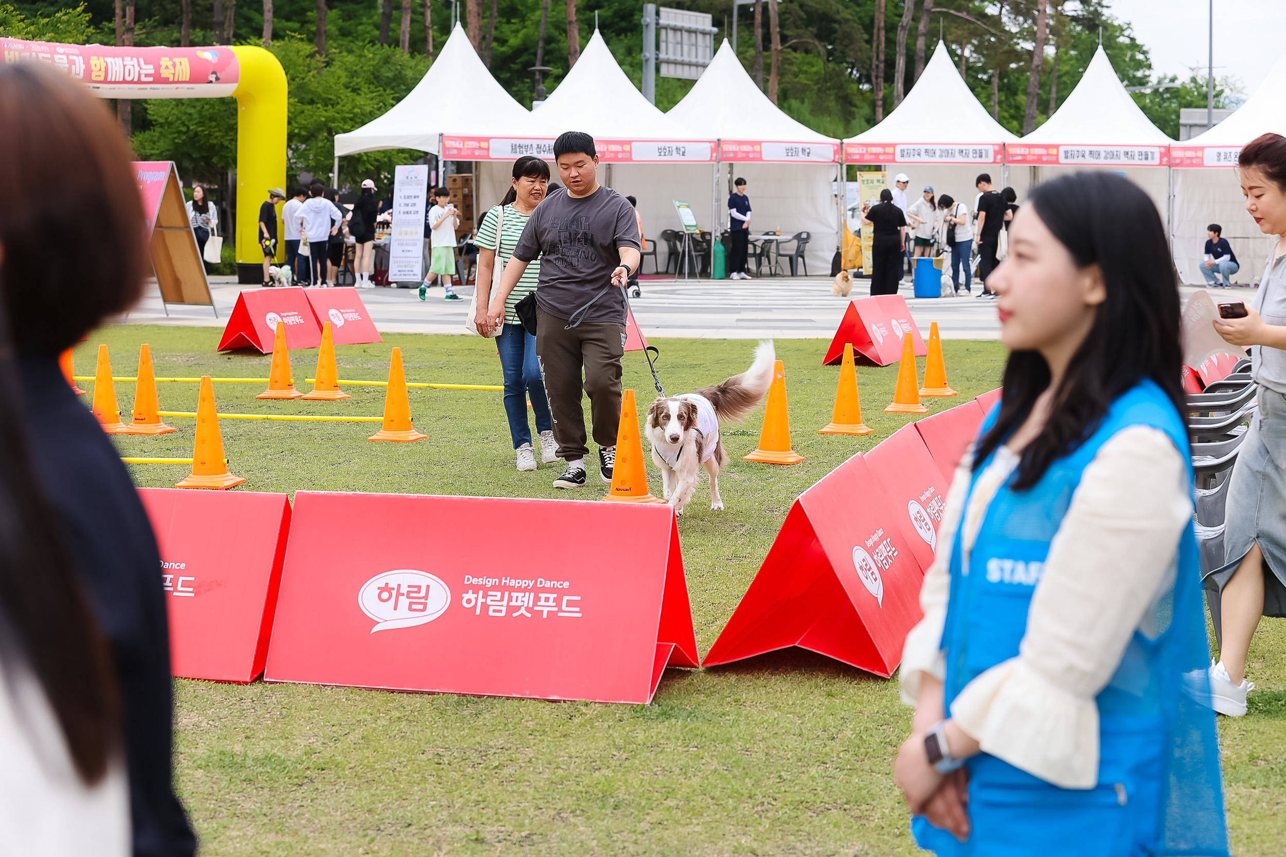
<instances>
[{"instance_id":1,"label":"white pointed tent directly above the staff woman's head, second from right","mask_svg":"<svg viewBox=\"0 0 1286 857\"><path fill-rule=\"evenodd\" d=\"M1039 167L1039 181L1078 170L1120 172L1147 191L1165 221L1170 143L1125 91L1100 45L1067 99L1044 125L1006 146L1006 159Z\"/></svg>"}]
</instances>

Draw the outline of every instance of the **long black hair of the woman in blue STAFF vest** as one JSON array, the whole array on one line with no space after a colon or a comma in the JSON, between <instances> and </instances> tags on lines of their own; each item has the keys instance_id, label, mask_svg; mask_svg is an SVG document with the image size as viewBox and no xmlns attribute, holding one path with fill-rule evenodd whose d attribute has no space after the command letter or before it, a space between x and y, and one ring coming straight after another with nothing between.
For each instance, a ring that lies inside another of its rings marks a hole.
<instances>
[{"instance_id":1,"label":"long black hair of the woman in blue STAFF vest","mask_svg":"<svg viewBox=\"0 0 1286 857\"><path fill-rule=\"evenodd\" d=\"M1138 185L1107 172L1055 179L1034 188L1029 202L1078 266L1100 267L1107 299L1053 393L1048 421L1022 450L1019 490L1039 482L1145 378L1183 411L1178 283L1156 206ZM1022 424L1049 379L1039 352L1010 355L1001 412L977 445L975 469Z\"/></svg>"}]
</instances>

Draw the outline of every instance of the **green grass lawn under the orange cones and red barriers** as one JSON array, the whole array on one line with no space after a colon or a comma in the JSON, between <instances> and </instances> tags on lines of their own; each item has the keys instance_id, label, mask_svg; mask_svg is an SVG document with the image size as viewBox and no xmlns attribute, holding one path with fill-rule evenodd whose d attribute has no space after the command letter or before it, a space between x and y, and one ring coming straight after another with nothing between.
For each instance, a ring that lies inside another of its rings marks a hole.
<instances>
[{"instance_id":1,"label":"green grass lawn under the orange cones and red barriers","mask_svg":"<svg viewBox=\"0 0 1286 857\"><path fill-rule=\"evenodd\" d=\"M267 376L266 356L217 355L219 330L117 326L77 349L93 374L107 343L117 375L132 375L139 343L158 375ZM754 343L657 340L671 392L743 370ZM883 414L896 367L859 369L864 438L819 436L829 421L836 367L826 342L778 340L786 361L793 446L806 461L754 465L760 414L725 437L733 463L727 510L698 488L680 519L701 651L709 650L768 552L792 500L908 418ZM338 348L340 375L383 380L400 346L410 380L499 383L495 351L477 338L388 335ZM962 396L998 384L998 343L945 343ZM294 376L315 367L298 351ZM640 401L651 378L626 355L625 383ZM922 366L921 366L922 369ZM91 384L82 383L91 389ZM307 389L306 384L297 385ZM253 385L217 384L221 411L379 415L383 391L349 388L342 402L256 401ZM129 411L132 385L118 384ZM165 410L194 410L195 384L162 384ZM412 391L428 439L368 443L370 424L225 420L231 470L246 488L566 496L561 473L513 468L498 392ZM126 416L126 420L129 416ZM190 419L176 434L117 437L122 455L185 457ZM171 486L184 465L131 465L140 486ZM653 474L655 475L655 474ZM653 479L660 493L660 479ZM577 495L592 499L602 486ZM854 499L855 502L860 499ZM432 520L390 520L432 537ZM575 551L576 532L567 533ZM512 546L521 561L521 546ZM586 558L590 559L590 558ZM597 559L597 558L595 558ZM1264 622L1251 651L1251 716L1220 723L1228 815L1237 854L1286 852L1286 626ZM909 709L894 682L801 651L709 671L667 671L651 705L396 694L306 685L176 681L179 789L206 854L910 854L908 818L891 779Z\"/></svg>"}]
</instances>

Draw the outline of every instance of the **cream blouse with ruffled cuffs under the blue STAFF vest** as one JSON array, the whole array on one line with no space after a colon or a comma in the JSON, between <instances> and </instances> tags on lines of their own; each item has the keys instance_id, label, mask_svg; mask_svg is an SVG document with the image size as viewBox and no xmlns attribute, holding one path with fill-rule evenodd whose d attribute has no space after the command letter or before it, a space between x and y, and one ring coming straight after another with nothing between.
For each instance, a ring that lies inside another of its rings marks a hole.
<instances>
[{"instance_id":1,"label":"cream blouse with ruffled cuffs under the blue STAFF vest","mask_svg":"<svg viewBox=\"0 0 1286 857\"><path fill-rule=\"evenodd\" d=\"M943 626L950 552L963 517L968 559L997 491L1019 465L1001 447L963 509L972 448L946 496L939 551L925 574L925 618L907 635L901 699L914 705L921 675L945 677ZM963 513L963 514L962 514ZM1134 425L1100 447L1082 474L1049 543L1019 655L986 669L952 702L950 716L984 753L1066 789L1098 779L1098 705L1136 630L1159 631L1154 614L1174 581L1179 535L1192 520L1187 466L1164 432Z\"/></svg>"}]
</instances>

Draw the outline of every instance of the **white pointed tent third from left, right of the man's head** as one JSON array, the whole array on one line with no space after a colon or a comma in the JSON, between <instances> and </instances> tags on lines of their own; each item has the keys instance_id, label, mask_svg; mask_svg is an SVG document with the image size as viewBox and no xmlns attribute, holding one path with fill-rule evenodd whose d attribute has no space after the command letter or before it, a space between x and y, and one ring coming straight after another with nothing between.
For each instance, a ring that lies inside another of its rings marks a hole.
<instances>
[{"instance_id":1,"label":"white pointed tent third from left, right of the man's head","mask_svg":"<svg viewBox=\"0 0 1286 857\"><path fill-rule=\"evenodd\" d=\"M752 229L810 233L805 265L810 274L829 271L838 218L833 186L838 140L796 122L768 100L727 40L666 117L691 134L718 140L719 158L729 164L714 171L710 222L716 233L728 225L724 203L732 179L745 177L754 206ZM710 177L711 170L703 166L675 166L664 172L617 166L612 186L638 198L643 231L657 236L662 229L678 229L671 200L696 194L693 189L709 186ZM705 206L697 211L702 217Z\"/></svg>"}]
</instances>

